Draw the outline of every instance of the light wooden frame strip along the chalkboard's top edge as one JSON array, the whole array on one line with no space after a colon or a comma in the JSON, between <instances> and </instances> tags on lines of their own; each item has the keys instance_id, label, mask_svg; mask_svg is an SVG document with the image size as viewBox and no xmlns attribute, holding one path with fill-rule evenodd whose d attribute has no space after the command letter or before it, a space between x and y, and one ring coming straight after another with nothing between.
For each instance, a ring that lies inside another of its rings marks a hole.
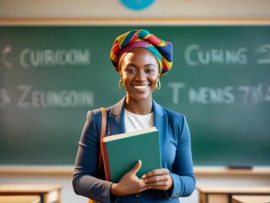
<instances>
[{"instance_id":1,"label":"light wooden frame strip along the chalkboard's top edge","mask_svg":"<svg viewBox=\"0 0 270 203\"><path fill-rule=\"evenodd\" d=\"M241 26L241 25L270 25L270 18L153 18L153 19L123 19L123 18L2 18L0 27L5 26ZM19 165L18 165L19 166ZM44 165L45 166L45 165ZM49 165L48 165L49 166Z\"/></svg>"}]
</instances>

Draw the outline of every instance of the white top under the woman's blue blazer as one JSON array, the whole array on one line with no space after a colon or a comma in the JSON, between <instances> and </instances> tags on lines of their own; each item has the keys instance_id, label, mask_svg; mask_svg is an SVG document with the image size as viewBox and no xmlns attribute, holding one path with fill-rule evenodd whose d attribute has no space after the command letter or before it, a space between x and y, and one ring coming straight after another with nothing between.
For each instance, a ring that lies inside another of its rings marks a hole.
<instances>
[{"instance_id":1,"label":"white top under the woman's blue blazer","mask_svg":"<svg viewBox=\"0 0 270 203\"><path fill-rule=\"evenodd\" d=\"M153 112L147 115L138 115L125 109L124 113L126 133L154 126Z\"/></svg>"}]
</instances>

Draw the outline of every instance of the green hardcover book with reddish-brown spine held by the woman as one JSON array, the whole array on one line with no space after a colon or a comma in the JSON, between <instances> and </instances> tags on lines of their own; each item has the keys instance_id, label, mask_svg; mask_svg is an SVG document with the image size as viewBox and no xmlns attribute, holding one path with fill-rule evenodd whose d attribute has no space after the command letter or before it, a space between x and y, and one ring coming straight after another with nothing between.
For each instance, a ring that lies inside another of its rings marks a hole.
<instances>
[{"instance_id":1,"label":"green hardcover book with reddish-brown spine held by the woman","mask_svg":"<svg viewBox=\"0 0 270 203\"><path fill-rule=\"evenodd\" d=\"M103 137L102 156L107 181L117 183L141 160L138 178L161 168L159 132L156 127Z\"/></svg>"}]
</instances>

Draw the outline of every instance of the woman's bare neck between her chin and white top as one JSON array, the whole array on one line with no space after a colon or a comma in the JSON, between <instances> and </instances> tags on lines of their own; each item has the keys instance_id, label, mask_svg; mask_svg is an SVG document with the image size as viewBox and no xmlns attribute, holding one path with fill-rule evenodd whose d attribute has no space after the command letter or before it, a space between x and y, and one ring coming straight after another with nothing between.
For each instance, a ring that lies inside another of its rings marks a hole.
<instances>
[{"instance_id":1,"label":"woman's bare neck between her chin and white top","mask_svg":"<svg viewBox=\"0 0 270 203\"><path fill-rule=\"evenodd\" d=\"M138 115L147 115L152 113L153 111L153 104L152 104L152 95L150 95L147 99L138 101L133 99L127 93L125 109L131 113L138 114Z\"/></svg>"}]
</instances>

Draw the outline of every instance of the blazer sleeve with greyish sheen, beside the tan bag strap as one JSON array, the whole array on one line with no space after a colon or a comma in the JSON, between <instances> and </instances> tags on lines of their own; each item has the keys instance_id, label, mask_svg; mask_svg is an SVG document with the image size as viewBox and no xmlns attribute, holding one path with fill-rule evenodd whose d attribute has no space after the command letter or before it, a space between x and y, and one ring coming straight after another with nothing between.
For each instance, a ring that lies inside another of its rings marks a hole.
<instances>
[{"instance_id":1,"label":"blazer sleeve with greyish sheen, beside the tan bag strap","mask_svg":"<svg viewBox=\"0 0 270 203\"><path fill-rule=\"evenodd\" d=\"M87 113L79 141L73 173L73 189L77 195L106 203L117 202L118 196L111 194L112 182L95 178L99 160L100 138L96 130L92 111Z\"/></svg>"}]
</instances>

